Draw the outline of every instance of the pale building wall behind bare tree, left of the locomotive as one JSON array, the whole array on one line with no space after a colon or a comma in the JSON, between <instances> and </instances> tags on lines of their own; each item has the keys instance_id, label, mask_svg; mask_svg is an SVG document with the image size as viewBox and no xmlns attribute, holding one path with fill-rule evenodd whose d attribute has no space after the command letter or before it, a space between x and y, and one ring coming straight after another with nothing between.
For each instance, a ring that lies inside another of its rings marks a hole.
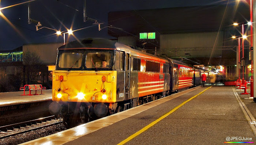
<instances>
[{"instance_id":1,"label":"pale building wall behind bare tree, left of the locomotive","mask_svg":"<svg viewBox=\"0 0 256 145\"><path fill-rule=\"evenodd\" d=\"M55 65L57 58L57 49L62 46L63 43L45 43L45 44L28 44L23 45L23 55L26 51L33 51L40 56L43 64Z\"/></svg>"}]
</instances>

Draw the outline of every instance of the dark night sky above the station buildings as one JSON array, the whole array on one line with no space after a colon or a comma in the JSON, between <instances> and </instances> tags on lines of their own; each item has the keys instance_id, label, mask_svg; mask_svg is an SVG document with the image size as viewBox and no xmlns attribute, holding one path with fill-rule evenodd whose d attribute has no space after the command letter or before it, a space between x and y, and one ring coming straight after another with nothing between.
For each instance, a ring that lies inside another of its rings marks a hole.
<instances>
[{"instance_id":1,"label":"dark night sky above the station buildings","mask_svg":"<svg viewBox=\"0 0 256 145\"><path fill-rule=\"evenodd\" d=\"M0 8L27 1L0 0ZM110 11L215 5L226 2L227 0L86 0L86 14L89 18L103 23L102 28L108 26L108 12ZM94 25L94 22L83 22L83 3L84 0L31 1L30 17L41 22L42 27L56 30L66 31L71 27L72 30L83 28L73 32L75 37L68 38L66 34L66 42L86 37L113 38L107 34L107 28L98 31L98 25ZM2 13L0 15L0 50L12 50L23 44L64 41L63 36L57 36L54 30L42 28L36 31L36 24L28 24L28 3L0 11Z\"/></svg>"}]
</instances>

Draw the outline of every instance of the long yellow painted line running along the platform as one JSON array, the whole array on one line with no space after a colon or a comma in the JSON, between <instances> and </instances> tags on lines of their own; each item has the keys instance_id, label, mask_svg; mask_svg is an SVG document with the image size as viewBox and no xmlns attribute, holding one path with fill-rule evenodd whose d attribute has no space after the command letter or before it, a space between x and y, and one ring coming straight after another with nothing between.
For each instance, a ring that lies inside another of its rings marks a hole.
<instances>
[{"instance_id":1,"label":"long yellow painted line running along the platform","mask_svg":"<svg viewBox=\"0 0 256 145\"><path fill-rule=\"evenodd\" d=\"M211 86L212 87L212 86ZM123 145L126 142L132 140L132 138L135 138L136 136L138 136L139 134L143 133L144 131L146 131L147 129L149 129L151 126L155 125L157 122L161 121L163 118L166 118L168 115L172 114L174 111L176 111L178 108L180 108L181 106L183 106L184 104L186 104L187 102L189 102L190 100L192 100L193 98L196 98L198 95L202 94L204 91L206 91L207 89L211 88L208 87L206 89L204 89L202 92L200 92L199 94L189 98L188 100L186 100L185 102L181 103L179 106L175 107L173 110L171 110L170 112L168 112L167 114L163 115L162 117L158 118L157 120L155 120L154 122L150 123L149 125L145 126L143 129L139 130L138 132L136 132L135 134L132 134L131 136L129 136L128 138L126 138L125 140L123 140L122 142L120 142L117 145Z\"/></svg>"}]
</instances>

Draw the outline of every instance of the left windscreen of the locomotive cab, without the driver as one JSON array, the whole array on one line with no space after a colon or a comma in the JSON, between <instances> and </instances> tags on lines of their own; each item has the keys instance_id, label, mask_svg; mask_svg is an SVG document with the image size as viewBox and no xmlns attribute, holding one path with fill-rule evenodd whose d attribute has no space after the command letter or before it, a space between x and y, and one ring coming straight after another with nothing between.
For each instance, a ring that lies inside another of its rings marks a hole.
<instances>
[{"instance_id":1,"label":"left windscreen of the locomotive cab, without the driver","mask_svg":"<svg viewBox=\"0 0 256 145\"><path fill-rule=\"evenodd\" d=\"M82 53L61 53L59 58L60 68L80 68L82 65Z\"/></svg>"}]
</instances>

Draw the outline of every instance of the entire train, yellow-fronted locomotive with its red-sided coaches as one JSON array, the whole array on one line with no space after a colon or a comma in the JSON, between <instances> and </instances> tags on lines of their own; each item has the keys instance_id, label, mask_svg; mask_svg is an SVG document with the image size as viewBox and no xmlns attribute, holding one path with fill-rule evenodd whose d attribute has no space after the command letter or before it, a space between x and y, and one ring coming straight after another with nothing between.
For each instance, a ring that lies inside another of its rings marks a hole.
<instances>
[{"instance_id":1,"label":"entire train, yellow-fronted locomotive with its red-sided coaches","mask_svg":"<svg viewBox=\"0 0 256 145\"><path fill-rule=\"evenodd\" d=\"M201 72L107 39L73 41L58 49L49 110L71 127L198 85Z\"/></svg>"}]
</instances>

